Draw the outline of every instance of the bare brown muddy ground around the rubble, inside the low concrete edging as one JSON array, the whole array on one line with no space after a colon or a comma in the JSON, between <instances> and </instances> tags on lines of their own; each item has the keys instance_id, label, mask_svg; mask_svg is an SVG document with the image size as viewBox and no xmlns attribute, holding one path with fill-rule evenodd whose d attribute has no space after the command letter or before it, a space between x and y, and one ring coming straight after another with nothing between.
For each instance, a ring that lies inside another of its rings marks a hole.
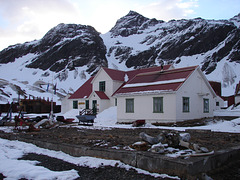
<instances>
[{"instance_id":1,"label":"bare brown muddy ground around the rubble, inside the low concrete edging","mask_svg":"<svg viewBox=\"0 0 240 180\"><path fill-rule=\"evenodd\" d=\"M54 143L67 143L85 145L89 147L128 149L129 145L141 141L139 134L145 132L151 136L157 136L161 132L174 132L170 130L149 129L149 128L106 128L92 129L91 127L57 127L52 129L41 129L39 132L16 132L23 138L33 138ZM190 142L209 151L226 149L240 145L240 134L221 133L207 130L188 130L191 135Z\"/></svg>"}]
</instances>

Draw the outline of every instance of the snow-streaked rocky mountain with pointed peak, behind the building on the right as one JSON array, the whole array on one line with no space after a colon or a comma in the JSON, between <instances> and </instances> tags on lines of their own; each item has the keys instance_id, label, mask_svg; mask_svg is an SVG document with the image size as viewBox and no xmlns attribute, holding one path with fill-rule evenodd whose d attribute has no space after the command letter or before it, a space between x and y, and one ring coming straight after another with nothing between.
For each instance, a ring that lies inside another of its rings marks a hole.
<instances>
[{"instance_id":1,"label":"snow-streaked rocky mountain with pointed peak, behind the building on the right","mask_svg":"<svg viewBox=\"0 0 240 180\"><path fill-rule=\"evenodd\" d=\"M209 74L223 58L240 62L239 20L240 14L231 20L197 18L163 22L130 11L110 30L117 43L109 45L107 55L125 61L128 68L139 68L178 63L183 56L204 54L202 70ZM131 46L125 43L126 38L133 37Z\"/></svg>"}]
</instances>

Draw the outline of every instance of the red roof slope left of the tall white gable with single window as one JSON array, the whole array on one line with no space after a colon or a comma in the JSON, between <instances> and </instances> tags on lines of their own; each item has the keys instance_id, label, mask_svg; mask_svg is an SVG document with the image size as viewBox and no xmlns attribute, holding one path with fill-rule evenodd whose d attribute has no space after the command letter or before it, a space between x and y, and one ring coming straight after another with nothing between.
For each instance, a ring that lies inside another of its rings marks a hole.
<instances>
[{"instance_id":1,"label":"red roof slope left of the tall white gable with single window","mask_svg":"<svg viewBox=\"0 0 240 180\"><path fill-rule=\"evenodd\" d=\"M78 90L73 93L68 99L80 99L84 97L89 97L89 95L92 93L92 84L91 81L94 78L92 76L89 78Z\"/></svg>"}]
</instances>

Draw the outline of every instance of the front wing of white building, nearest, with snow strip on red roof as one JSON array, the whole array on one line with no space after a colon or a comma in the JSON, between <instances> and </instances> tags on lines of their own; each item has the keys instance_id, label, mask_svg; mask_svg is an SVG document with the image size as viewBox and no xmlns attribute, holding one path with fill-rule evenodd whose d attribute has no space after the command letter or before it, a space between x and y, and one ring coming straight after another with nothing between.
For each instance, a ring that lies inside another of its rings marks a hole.
<instances>
[{"instance_id":1,"label":"front wing of white building, nearest, with snow strip on red roof","mask_svg":"<svg viewBox=\"0 0 240 180\"><path fill-rule=\"evenodd\" d=\"M213 117L217 97L198 66L138 74L114 96L120 123Z\"/></svg>"}]
</instances>

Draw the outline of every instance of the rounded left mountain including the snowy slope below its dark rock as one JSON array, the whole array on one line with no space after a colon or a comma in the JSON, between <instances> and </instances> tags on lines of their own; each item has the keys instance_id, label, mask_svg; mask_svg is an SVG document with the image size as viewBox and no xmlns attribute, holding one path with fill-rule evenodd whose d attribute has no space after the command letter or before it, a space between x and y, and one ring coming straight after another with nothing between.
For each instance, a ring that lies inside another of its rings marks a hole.
<instances>
[{"instance_id":1,"label":"rounded left mountain including the snowy slope below its dark rock","mask_svg":"<svg viewBox=\"0 0 240 180\"><path fill-rule=\"evenodd\" d=\"M59 24L40 40L9 46L0 52L0 101L49 97L57 83L55 97L72 93L83 81L107 66L106 46L91 26Z\"/></svg>"}]
</instances>

